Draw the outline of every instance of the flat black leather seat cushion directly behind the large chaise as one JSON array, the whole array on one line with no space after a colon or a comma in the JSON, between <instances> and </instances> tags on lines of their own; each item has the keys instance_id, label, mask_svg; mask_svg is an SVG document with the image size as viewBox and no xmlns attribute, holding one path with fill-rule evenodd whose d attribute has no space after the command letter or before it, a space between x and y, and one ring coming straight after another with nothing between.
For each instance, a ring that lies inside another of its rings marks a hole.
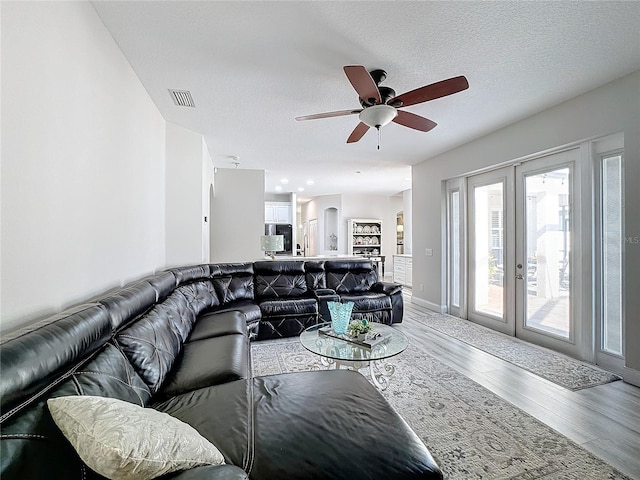
<instances>
[{"instance_id":1,"label":"flat black leather seat cushion directly behind the large chaise","mask_svg":"<svg viewBox=\"0 0 640 480\"><path fill-rule=\"evenodd\" d=\"M244 334L206 338L184 345L161 394L180 395L249 376L249 342Z\"/></svg>"}]
</instances>

